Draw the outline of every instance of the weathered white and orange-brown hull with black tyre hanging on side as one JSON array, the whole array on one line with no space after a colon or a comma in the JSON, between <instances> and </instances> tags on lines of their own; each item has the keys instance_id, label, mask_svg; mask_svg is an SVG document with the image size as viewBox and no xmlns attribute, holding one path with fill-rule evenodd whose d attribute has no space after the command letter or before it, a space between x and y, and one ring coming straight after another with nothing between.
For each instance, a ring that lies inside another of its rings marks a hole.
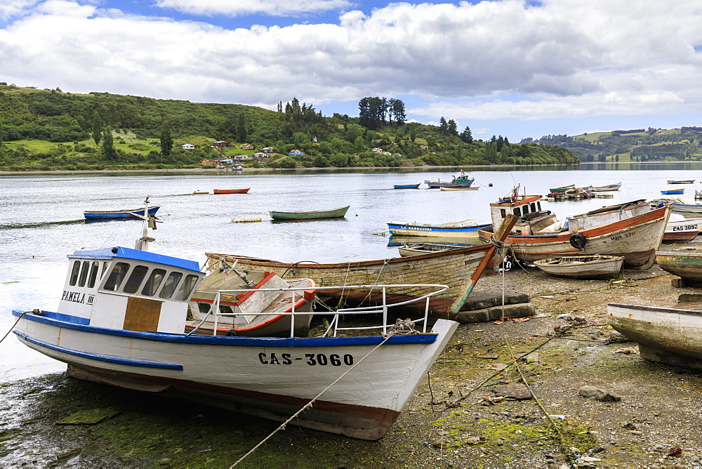
<instances>
[{"instance_id":1,"label":"weathered white and orange-brown hull with black tyre hanging on side","mask_svg":"<svg viewBox=\"0 0 702 469\"><path fill-rule=\"evenodd\" d=\"M622 256L624 267L646 270L656 260L656 249L661 244L669 209L662 207L639 216L614 223L578 230L587 242L582 248L571 244L573 232L557 234L510 234L505 244L518 260L527 263L562 256L590 256L604 254ZM489 239L491 232L480 232L482 239Z\"/></svg>"}]
</instances>

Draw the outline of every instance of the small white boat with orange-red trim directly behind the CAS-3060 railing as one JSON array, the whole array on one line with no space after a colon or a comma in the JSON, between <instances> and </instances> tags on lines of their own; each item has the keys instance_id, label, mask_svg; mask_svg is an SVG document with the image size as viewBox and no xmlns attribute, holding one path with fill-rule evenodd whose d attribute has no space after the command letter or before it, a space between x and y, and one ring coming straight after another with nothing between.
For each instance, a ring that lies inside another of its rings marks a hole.
<instances>
[{"instance_id":1,"label":"small white boat with orange-red trim directly behind the CAS-3060 railing","mask_svg":"<svg viewBox=\"0 0 702 469\"><path fill-rule=\"evenodd\" d=\"M291 290L306 287L307 290ZM220 292L218 296L217 292ZM273 272L218 269L198 285L190 300L185 331L207 335L288 337L294 310L293 335L306 337L310 330L314 281L284 279ZM213 305L219 305L214 314Z\"/></svg>"}]
</instances>

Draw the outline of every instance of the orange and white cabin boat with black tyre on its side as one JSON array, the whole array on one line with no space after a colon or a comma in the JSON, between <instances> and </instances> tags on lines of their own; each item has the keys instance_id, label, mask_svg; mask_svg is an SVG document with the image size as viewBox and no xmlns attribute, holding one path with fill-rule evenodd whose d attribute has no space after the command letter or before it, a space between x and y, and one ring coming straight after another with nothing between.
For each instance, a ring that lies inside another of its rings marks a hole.
<instances>
[{"instance_id":1,"label":"orange and white cabin boat with black tyre on its side","mask_svg":"<svg viewBox=\"0 0 702 469\"><path fill-rule=\"evenodd\" d=\"M493 226L506 213L520 214L515 232L505 239L518 260L534 263L545 258L604 254L623 256L625 268L645 270L654 264L668 223L668 204L651 210L647 202L637 200L573 216L566 224L550 211L541 211L539 199L541 196L516 195L490 204ZM491 235L489 230L479 231L483 240Z\"/></svg>"}]
</instances>

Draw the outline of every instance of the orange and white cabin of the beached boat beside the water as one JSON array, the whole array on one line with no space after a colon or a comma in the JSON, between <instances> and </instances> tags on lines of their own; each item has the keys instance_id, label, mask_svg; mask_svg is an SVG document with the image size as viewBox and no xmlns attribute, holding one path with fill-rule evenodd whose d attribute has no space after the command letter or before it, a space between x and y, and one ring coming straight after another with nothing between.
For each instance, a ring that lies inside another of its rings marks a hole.
<instances>
[{"instance_id":1,"label":"orange and white cabin of the beached boat beside the water","mask_svg":"<svg viewBox=\"0 0 702 469\"><path fill-rule=\"evenodd\" d=\"M504 197L495 204L490 204L490 216L493 227L502 224L508 213L516 215L519 220L512 232L519 234L536 234L545 227L556 223L556 216L541 209L541 195L517 195Z\"/></svg>"}]
</instances>

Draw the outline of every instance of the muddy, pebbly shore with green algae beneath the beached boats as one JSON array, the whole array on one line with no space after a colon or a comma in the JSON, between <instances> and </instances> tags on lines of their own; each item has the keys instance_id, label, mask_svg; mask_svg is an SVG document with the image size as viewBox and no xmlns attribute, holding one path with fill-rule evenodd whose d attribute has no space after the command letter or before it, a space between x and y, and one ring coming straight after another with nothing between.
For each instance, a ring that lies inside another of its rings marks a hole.
<instances>
[{"instance_id":1,"label":"muddy, pebbly shore with green algae beneath the beached boats","mask_svg":"<svg viewBox=\"0 0 702 469\"><path fill-rule=\"evenodd\" d=\"M505 289L529 293L536 317L461 325L383 440L289 426L239 467L700 467L702 374L641 359L607 325L607 303L668 306L699 291L673 288L658 267L623 277L513 269ZM479 290L501 291L502 280L485 277ZM524 399L524 381L536 399ZM605 396L579 395L586 385ZM107 417L57 424L88 409ZM62 374L0 385L0 465L8 467L226 468L276 427Z\"/></svg>"}]
</instances>

